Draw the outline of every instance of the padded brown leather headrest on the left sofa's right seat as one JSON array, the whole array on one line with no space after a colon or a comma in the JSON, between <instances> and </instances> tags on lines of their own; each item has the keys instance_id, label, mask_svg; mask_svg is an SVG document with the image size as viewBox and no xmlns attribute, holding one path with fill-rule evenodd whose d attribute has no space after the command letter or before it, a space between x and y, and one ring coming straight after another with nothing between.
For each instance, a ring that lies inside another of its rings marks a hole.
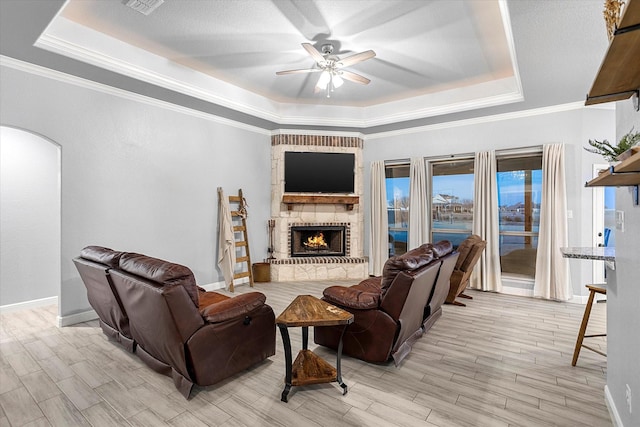
<instances>
[{"instance_id":1,"label":"padded brown leather headrest on the left sofa's right seat","mask_svg":"<svg viewBox=\"0 0 640 427\"><path fill-rule=\"evenodd\" d=\"M120 269L162 286L183 286L195 306L198 307L198 286L189 267L127 252L120 258Z\"/></svg>"}]
</instances>

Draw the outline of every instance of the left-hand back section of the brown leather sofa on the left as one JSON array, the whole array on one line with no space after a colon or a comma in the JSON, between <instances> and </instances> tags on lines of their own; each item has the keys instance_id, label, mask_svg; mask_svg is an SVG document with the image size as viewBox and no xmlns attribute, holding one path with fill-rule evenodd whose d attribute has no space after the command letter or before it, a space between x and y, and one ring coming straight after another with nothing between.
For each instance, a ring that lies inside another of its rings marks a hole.
<instances>
[{"instance_id":1,"label":"left-hand back section of the brown leather sofa on the left","mask_svg":"<svg viewBox=\"0 0 640 427\"><path fill-rule=\"evenodd\" d=\"M109 338L130 352L135 341L129 330L129 318L111 282L109 271L118 268L122 252L102 246L87 246L73 263L87 288L89 304L98 314L100 328Z\"/></svg>"}]
</instances>

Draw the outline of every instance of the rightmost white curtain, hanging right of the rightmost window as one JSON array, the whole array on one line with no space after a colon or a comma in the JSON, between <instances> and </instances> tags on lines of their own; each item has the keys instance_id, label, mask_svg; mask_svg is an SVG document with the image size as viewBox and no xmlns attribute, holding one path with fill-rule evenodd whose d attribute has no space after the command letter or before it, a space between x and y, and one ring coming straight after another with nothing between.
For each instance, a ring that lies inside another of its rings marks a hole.
<instances>
[{"instance_id":1,"label":"rightmost white curtain, hanging right of the rightmost window","mask_svg":"<svg viewBox=\"0 0 640 427\"><path fill-rule=\"evenodd\" d=\"M533 295L566 301L571 298L569 263L560 248L568 246L564 145L548 144L542 153L542 200Z\"/></svg>"}]
</instances>

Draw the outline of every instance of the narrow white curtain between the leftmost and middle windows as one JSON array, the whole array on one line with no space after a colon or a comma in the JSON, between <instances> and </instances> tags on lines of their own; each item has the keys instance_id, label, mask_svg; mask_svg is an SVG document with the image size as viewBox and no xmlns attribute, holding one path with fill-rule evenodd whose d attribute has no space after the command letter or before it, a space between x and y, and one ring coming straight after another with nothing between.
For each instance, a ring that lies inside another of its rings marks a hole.
<instances>
[{"instance_id":1,"label":"narrow white curtain between the leftmost and middle windows","mask_svg":"<svg viewBox=\"0 0 640 427\"><path fill-rule=\"evenodd\" d=\"M429 241L429 205L424 159L411 159L409 171L409 248Z\"/></svg>"}]
</instances>

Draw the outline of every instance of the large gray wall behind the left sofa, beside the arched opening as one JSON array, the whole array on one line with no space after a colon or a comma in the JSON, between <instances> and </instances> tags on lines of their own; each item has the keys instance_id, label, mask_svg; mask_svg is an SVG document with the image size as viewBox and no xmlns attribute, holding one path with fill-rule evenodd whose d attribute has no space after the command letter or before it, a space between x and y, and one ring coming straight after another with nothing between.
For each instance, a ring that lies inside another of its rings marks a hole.
<instances>
[{"instance_id":1,"label":"large gray wall behind the left sofa, beside the arched opening","mask_svg":"<svg viewBox=\"0 0 640 427\"><path fill-rule=\"evenodd\" d=\"M89 244L187 265L199 284L222 281L218 186L227 194L243 189L252 258L266 256L266 132L70 84L55 74L52 79L10 67L0 72L2 124L61 146L61 316L90 308L72 263Z\"/></svg>"}]
</instances>

